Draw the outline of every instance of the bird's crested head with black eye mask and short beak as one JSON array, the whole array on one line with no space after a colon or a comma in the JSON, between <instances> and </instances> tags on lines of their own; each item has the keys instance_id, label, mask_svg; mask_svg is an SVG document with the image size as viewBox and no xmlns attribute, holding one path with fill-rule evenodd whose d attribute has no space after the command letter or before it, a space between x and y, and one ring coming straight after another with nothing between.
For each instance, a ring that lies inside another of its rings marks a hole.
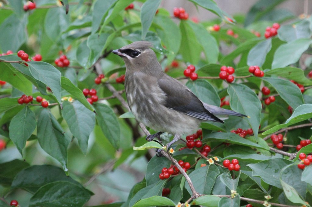
<instances>
[{"instance_id":1,"label":"bird's crested head with black eye mask and short beak","mask_svg":"<svg viewBox=\"0 0 312 207\"><path fill-rule=\"evenodd\" d=\"M138 41L113 50L112 53L123 58L127 70L141 70L146 66L160 67L156 54L151 47L153 45L148 41Z\"/></svg>"}]
</instances>

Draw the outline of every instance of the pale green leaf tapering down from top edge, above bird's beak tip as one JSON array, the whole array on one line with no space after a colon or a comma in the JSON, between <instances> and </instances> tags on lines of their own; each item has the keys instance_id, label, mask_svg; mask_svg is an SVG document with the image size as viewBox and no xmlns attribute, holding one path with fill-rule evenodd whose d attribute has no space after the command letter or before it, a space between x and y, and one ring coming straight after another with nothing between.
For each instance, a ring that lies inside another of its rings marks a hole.
<instances>
[{"instance_id":1,"label":"pale green leaf tapering down from top edge, above bird's beak tip","mask_svg":"<svg viewBox=\"0 0 312 207\"><path fill-rule=\"evenodd\" d=\"M92 34L95 33L102 22L103 17L107 14L109 9L114 5L117 0L97 0L94 3L93 11L92 11Z\"/></svg>"}]
</instances>

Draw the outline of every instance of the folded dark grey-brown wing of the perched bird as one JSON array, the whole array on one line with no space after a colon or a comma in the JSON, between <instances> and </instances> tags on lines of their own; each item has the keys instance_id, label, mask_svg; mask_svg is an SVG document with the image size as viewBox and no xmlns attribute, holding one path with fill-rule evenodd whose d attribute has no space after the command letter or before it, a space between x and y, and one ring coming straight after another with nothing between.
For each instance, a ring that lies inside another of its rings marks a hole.
<instances>
[{"instance_id":1,"label":"folded dark grey-brown wing of the perched bird","mask_svg":"<svg viewBox=\"0 0 312 207\"><path fill-rule=\"evenodd\" d=\"M170 76L158 79L158 86L166 94L164 106L206 121L221 122L210 113L186 86Z\"/></svg>"}]
</instances>

